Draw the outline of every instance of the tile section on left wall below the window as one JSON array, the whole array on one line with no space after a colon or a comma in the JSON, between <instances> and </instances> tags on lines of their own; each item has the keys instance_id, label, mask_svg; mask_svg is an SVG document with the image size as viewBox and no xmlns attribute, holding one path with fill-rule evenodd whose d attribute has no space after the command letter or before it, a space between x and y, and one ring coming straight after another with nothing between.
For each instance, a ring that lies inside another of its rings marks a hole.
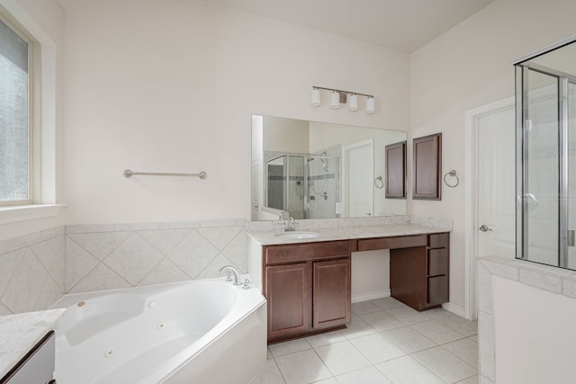
<instances>
[{"instance_id":1,"label":"tile section on left wall below the window","mask_svg":"<svg viewBox=\"0 0 576 384\"><path fill-rule=\"evenodd\" d=\"M66 292L63 226L0 241L0 316L49 308Z\"/></svg>"}]
</instances>

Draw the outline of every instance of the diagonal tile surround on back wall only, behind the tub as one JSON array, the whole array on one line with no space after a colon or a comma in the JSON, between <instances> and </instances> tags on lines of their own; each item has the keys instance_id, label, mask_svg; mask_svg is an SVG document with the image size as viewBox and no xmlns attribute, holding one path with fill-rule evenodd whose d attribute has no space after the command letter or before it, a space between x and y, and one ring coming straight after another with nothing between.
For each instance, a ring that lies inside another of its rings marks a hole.
<instances>
[{"instance_id":1,"label":"diagonal tile surround on back wall only, behind the tub","mask_svg":"<svg viewBox=\"0 0 576 384\"><path fill-rule=\"evenodd\" d=\"M247 272L245 219L75 225L66 230L66 291L78 293Z\"/></svg>"}]
</instances>

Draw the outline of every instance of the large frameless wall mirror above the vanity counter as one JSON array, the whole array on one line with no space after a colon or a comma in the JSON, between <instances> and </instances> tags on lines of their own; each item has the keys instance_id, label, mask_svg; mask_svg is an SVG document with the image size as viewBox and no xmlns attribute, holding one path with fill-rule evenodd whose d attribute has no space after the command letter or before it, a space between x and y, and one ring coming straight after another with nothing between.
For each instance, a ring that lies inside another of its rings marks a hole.
<instances>
[{"instance_id":1,"label":"large frameless wall mirror above the vanity counter","mask_svg":"<svg viewBox=\"0 0 576 384\"><path fill-rule=\"evenodd\" d=\"M385 147L404 141L397 130L252 116L252 220L405 215L405 199L385 196Z\"/></svg>"}]
</instances>

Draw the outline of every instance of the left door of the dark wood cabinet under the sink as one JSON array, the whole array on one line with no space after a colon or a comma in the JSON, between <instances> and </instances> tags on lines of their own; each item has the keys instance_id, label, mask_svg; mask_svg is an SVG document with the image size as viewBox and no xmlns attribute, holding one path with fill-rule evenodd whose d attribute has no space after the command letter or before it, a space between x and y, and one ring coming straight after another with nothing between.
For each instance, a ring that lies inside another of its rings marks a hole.
<instances>
[{"instance_id":1,"label":"left door of the dark wood cabinet under the sink","mask_svg":"<svg viewBox=\"0 0 576 384\"><path fill-rule=\"evenodd\" d=\"M266 266L268 339L310 328L311 266L292 263Z\"/></svg>"}]
</instances>

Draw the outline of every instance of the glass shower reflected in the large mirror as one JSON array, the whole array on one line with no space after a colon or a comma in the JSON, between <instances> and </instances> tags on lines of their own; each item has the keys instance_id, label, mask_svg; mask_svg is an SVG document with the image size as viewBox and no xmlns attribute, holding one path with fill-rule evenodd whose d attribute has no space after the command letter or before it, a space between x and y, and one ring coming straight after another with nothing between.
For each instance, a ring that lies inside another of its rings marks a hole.
<instances>
[{"instance_id":1,"label":"glass shower reflected in the large mirror","mask_svg":"<svg viewBox=\"0 0 576 384\"><path fill-rule=\"evenodd\" d=\"M337 218L339 156L280 155L266 161L266 207L294 219Z\"/></svg>"}]
</instances>

